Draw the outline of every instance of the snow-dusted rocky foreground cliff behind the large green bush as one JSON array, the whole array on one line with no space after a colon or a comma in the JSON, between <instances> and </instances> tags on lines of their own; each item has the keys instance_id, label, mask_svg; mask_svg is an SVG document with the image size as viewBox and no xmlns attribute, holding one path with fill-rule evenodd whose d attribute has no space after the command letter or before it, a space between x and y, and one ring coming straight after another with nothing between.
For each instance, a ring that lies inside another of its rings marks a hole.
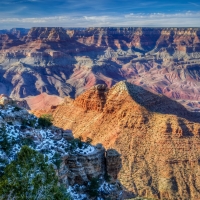
<instances>
[{"instance_id":1,"label":"snow-dusted rocky foreground cliff behind the large green bush","mask_svg":"<svg viewBox=\"0 0 200 200\"><path fill-rule=\"evenodd\" d=\"M75 139L71 130L42 127L35 116L18 107L11 98L1 95L0 178L5 166L16 159L23 145L44 154L45 162L53 165L60 183L72 199L123 199L123 187L117 180L121 155L116 150L106 151L101 144L93 146ZM34 176L33 171L30 176ZM106 180L107 174L111 180Z\"/></svg>"}]
</instances>

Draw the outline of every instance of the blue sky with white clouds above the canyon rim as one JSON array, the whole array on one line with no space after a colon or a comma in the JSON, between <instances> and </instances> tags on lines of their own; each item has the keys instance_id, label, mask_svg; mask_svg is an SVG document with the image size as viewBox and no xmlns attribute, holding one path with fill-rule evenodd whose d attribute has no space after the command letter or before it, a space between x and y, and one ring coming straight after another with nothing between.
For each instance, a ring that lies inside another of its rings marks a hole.
<instances>
[{"instance_id":1,"label":"blue sky with white clouds above the canyon rim","mask_svg":"<svg viewBox=\"0 0 200 200\"><path fill-rule=\"evenodd\" d=\"M0 29L33 26L200 27L200 0L0 1Z\"/></svg>"}]
</instances>

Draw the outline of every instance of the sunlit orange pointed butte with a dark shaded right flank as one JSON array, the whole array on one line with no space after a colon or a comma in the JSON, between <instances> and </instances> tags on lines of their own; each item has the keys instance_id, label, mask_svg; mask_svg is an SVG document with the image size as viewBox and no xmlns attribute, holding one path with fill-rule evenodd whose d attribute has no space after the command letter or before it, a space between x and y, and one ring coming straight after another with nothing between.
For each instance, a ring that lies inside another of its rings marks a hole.
<instances>
[{"instance_id":1,"label":"sunlit orange pointed butte with a dark shaded right flank","mask_svg":"<svg viewBox=\"0 0 200 200\"><path fill-rule=\"evenodd\" d=\"M119 180L132 194L199 199L199 116L128 82L105 89L103 109L96 109L100 96L94 93L91 89L58 106L54 124L116 149L122 155ZM113 165L108 166L112 174Z\"/></svg>"}]
</instances>

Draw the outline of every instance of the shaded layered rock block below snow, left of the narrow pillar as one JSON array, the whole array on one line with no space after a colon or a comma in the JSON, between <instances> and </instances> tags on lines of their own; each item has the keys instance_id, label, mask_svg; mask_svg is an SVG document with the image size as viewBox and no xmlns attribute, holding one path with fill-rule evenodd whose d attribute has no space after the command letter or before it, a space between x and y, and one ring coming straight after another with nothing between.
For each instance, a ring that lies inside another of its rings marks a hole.
<instances>
[{"instance_id":1,"label":"shaded layered rock block below snow, left of the narrow pillar","mask_svg":"<svg viewBox=\"0 0 200 200\"><path fill-rule=\"evenodd\" d=\"M63 163L59 173L67 176L68 185L84 184L92 178L104 176L105 173L105 149L97 145L90 154L80 152L63 157ZM68 171L64 173L64 171ZM62 180L63 177L61 176Z\"/></svg>"}]
</instances>

